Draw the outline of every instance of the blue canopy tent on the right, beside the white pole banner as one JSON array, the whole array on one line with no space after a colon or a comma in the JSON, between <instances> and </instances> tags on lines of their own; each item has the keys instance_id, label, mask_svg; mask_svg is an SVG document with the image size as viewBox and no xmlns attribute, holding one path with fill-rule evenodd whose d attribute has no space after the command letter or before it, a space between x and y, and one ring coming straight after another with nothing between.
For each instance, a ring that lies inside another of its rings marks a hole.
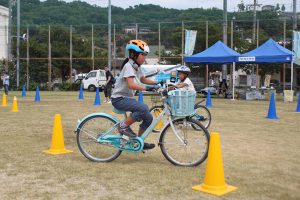
<instances>
[{"instance_id":1,"label":"blue canopy tent on the right, beside the white pole banner","mask_svg":"<svg viewBox=\"0 0 300 200\"><path fill-rule=\"evenodd\" d=\"M291 63L291 90L293 87L293 52L269 39L256 49L242 54L237 63Z\"/></svg>"}]
</instances>

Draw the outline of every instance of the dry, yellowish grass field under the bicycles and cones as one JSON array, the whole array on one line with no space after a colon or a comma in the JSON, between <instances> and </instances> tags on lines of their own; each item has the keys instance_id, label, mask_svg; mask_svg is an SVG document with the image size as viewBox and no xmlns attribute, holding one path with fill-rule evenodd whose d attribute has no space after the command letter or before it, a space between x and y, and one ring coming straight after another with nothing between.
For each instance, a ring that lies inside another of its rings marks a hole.
<instances>
[{"instance_id":1,"label":"dry, yellowish grass field under the bicycles and cones","mask_svg":"<svg viewBox=\"0 0 300 200\"><path fill-rule=\"evenodd\" d=\"M203 182L205 165L170 164L155 148L123 153L111 163L87 160L78 150L77 120L92 112L94 93L11 92L0 107L0 199L300 199L300 113L296 102L277 101L279 120L266 119L268 101L213 99L210 132L219 132L226 182L238 190L222 197L193 191ZM19 112L11 112L13 95ZM103 95L101 93L101 95ZM101 96L103 100L103 96ZM144 96L151 105L150 98ZM65 145L73 153L51 156L54 115L61 114ZM150 135L156 142L158 133Z\"/></svg>"}]
</instances>

